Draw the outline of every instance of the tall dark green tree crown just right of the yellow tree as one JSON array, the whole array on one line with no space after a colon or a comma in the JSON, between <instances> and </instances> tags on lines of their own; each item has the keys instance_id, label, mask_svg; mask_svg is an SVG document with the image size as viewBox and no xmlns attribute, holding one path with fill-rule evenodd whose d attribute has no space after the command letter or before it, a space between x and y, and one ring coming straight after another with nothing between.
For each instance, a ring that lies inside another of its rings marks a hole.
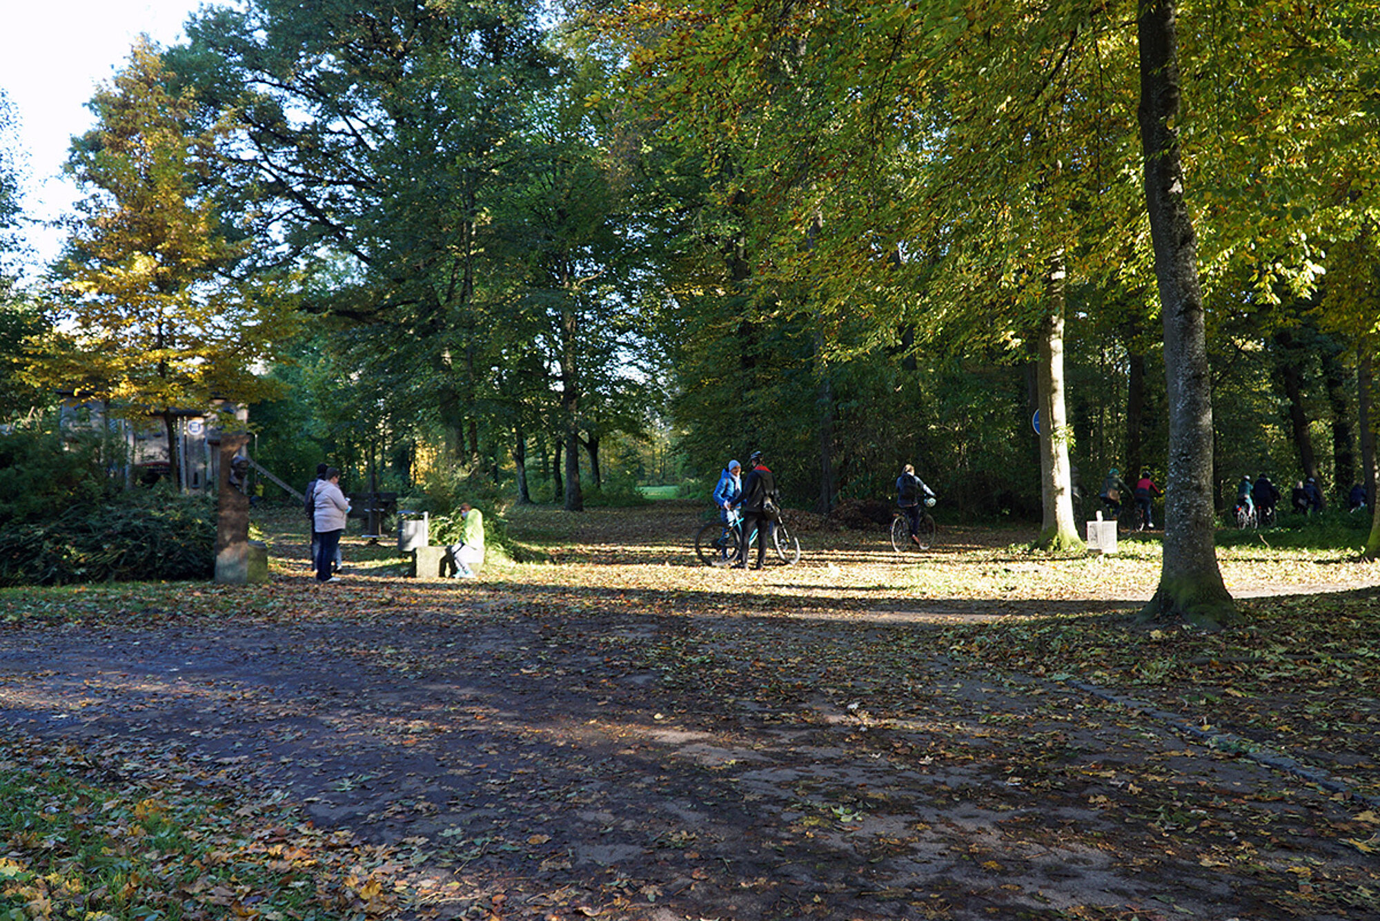
<instances>
[{"instance_id":1,"label":"tall dark green tree crown just right of the yellow tree","mask_svg":"<svg viewBox=\"0 0 1380 921\"><path fill-rule=\"evenodd\" d=\"M237 168L276 203L282 258L323 269L306 308L353 327L357 373L397 380L388 414L439 429L466 468L512 425L493 369L513 355L516 280L495 217L533 168L515 152L556 64L535 14L253 0L204 10L178 51L207 109L243 126Z\"/></svg>"}]
</instances>

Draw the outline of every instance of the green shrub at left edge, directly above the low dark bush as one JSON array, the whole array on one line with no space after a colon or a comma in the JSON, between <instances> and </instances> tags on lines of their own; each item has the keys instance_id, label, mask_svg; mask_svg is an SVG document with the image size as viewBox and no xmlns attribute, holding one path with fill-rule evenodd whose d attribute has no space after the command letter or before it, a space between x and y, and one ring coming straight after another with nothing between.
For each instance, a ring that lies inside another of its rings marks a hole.
<instances>
[{"instance_id":1,"label":"green shrub at left edge, directly above the low dark bush","mask_svg":"<svg viewBox=\"0 0 1380 921\"><path fill-rule=\"evenodd\" d=\"M109 492L99 443L88 439L68 443L55 429L29 425L0 435L0 527L98 504Z\"/></svg>"}]
</instances>

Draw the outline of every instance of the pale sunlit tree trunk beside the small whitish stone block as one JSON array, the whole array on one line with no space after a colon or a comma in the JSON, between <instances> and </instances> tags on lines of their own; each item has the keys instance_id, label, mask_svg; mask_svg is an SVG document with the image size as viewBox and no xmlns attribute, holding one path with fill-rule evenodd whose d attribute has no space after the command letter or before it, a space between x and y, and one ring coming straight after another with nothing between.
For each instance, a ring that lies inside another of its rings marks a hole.
<instances>
[{"instance_id":1,"label":"pale sunlit tree trunk beside the small whitish stone block","mask_svg":"<svg viewBox=\"0 0 1380 921\"><path fill-rule=\"evenodd\" d=\"M1045 550L1079 550L1068 464L1068 418L1064 407L1064 261L1050 262L1047 307L1039 330L1039 468L1045 519L1036 541Z\"/></svg>"}]
</instances>

